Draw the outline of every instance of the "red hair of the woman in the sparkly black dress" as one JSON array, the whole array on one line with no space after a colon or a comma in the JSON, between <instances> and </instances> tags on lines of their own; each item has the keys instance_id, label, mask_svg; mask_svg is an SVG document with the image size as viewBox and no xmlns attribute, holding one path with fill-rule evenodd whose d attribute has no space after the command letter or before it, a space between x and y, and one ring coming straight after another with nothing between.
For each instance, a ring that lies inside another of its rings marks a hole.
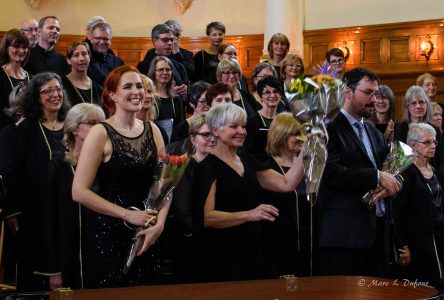
<instances>
[{"instance_id":1,"label":"red hair of the woman in the sparkly black dress","mask_svg":"<svg viewBox=\"0 0 444 300\"><path fill-rule=\"evenodd\" d=\"M110 94L115 93L119 87L120 79L123 74L128 72L136 72L140 75L140 72L133 66L123 65L112 70L106 77L103 85L103 94L101 105L108 116L112 116L116 112L116 103L111 99Z\"/></svg>"}]
</instances>

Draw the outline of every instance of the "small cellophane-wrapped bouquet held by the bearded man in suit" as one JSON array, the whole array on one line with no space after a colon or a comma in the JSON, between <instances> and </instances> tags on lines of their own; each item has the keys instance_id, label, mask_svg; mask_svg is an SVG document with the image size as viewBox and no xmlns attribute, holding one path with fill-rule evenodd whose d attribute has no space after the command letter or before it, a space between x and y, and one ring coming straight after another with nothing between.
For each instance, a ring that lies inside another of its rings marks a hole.
<instances>
[{"instance_id":1,"label":"small cellophane-wrapped bouquet held by the bearded man in suit","mask_svg":"<svg viewBox=\"0 0 444 300\"><path fill-rule=\"evenodd\" d=\"M390 145L390 153L385 158L381 171L399 176L413 163L415 152L409 145L400 141L393 142ZM378 200L375 199L374 195L374 191L368 191L362 197L362 202L367 204L369 208L372 208Z\"/></svg>"}]
</instances>

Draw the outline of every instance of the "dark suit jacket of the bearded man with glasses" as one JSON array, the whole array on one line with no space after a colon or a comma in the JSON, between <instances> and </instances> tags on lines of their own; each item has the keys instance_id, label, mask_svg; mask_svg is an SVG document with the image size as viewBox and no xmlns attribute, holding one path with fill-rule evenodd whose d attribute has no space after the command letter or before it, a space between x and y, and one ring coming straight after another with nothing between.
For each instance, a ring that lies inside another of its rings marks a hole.
<instances>
[{"instance_id":1,"label":"dark suit jacket of the bearded man with glasses","mask_svg":"<svg viewBox=\"0 0 444 300\"><path fill-rule=\"evenodd\" d=\"M388 145L371 123L365 122L365 129L381 168ZM376 238L376 214L361 198L377 186L377 170L342 113L327 130L328 158L318 196L319 246L368 249Z\"/></svg>"}]
</instances>

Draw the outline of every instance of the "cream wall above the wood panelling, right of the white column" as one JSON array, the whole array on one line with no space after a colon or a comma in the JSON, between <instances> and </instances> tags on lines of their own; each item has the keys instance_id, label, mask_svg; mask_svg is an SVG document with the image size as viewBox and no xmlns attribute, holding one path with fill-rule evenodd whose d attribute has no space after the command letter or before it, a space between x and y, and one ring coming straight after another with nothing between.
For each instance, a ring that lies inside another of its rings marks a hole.
<instances>
[{"instance_id":1,"label":"cream wall above the wood panelling, right of the white column","mask_svg":"<svg viewBox=\"0 0 444 300\"><path fill-rule=\"evenodd\" d=\"M305 29L444 18L443 0L305 0Z\"/></svg>"}]
</instances>

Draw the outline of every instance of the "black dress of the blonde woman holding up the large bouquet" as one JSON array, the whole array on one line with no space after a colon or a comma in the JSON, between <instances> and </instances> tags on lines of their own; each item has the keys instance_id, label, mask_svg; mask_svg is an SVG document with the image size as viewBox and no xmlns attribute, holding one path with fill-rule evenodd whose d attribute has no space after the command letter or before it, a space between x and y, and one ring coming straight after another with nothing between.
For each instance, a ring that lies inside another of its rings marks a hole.
<instances>
[{"instance_id":1,"label":"black dress of the blonde woman holding up the large bouquet","mask_svg":"<svg viewBox=\"0 0 444 300\"><path fill-rule=\"evenodd\" d=\"M265 169L272 169L285 175L288 167L279 166L269 157ZM264 265L267 276L280 275L311 276L313 274L313 253L316 253L314 223L316 218L305 197L304 179L297 189L289 193L265 190L264 202L279 210L274 222L264 224Z\"/></svg>"}]
</instances>

